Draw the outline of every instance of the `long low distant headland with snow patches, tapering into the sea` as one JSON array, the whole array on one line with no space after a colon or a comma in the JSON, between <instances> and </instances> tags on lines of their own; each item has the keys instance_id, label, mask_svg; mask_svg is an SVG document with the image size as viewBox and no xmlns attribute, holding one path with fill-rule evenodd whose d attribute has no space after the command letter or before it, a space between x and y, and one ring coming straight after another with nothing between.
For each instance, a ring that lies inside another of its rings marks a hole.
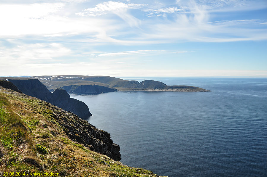
<instances>
[{"instance_id":1,"label":"long low distant headland with snow patches, tapering into the sea","mask_svg":"<svg viewBox=\"0 0 267 177\"><path fill-rule=\"evenodd\" d=\"M210 91L195 86L167 86L163 82L145 80L127 81L109 76L85 75L42 75L30 77L38 79L49 91L57 88L75 94L101 94L114 91L177 91L177 92L204 92Z\"/></svg>"}]
</instances>

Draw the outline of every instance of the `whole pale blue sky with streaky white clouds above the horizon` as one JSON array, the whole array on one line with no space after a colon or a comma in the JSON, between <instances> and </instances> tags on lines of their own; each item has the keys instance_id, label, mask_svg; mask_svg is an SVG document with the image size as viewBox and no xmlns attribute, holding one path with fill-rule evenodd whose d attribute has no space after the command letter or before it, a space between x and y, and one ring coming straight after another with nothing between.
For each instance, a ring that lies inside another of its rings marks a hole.
<instances>
[{"instance_id":1,"label":"whole pale blue sky with streaky white clouds above the horizon","mask_svg":"<svg viewBox=\"0 0 267 177\"><path fill-rule=\"evenodd\" d=\"M267 77L266 0L1 0L0 75Z\"/></svg>"}]
</instances>

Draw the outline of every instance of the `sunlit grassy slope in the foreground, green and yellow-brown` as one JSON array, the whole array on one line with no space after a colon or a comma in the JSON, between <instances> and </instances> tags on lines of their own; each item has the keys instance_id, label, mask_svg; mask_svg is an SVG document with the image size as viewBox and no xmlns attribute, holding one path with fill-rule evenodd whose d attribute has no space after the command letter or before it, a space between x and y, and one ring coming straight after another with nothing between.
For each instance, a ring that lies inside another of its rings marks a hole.
<instances>
[{"instance_id":1,"label":"sunlit grassy slope in the foreground, green and yellow-brown","mask_svg":"<svg viewBox=\"0 0 267 177\"><path fill-rule=\"evenodd\" d=\"M60 176L157 176L132 168L69 139L53 119L50 104L0 87L0 176L2 172Z\"/></svg>"}]
</instances>

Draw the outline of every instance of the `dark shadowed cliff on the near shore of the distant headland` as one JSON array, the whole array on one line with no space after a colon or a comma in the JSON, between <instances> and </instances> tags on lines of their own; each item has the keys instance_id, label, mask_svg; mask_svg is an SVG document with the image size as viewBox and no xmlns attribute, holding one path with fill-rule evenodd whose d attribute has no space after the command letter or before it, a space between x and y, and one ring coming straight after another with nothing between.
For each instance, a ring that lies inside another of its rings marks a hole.
<instances>
[{"instance_id":1,"label":"dark shadowed cliff on the near shore of the distant headland","mask_svg":"<svg viewBox=\"0 0 267 177\"><path fill-rule=\"evenodd\" d=\"M71 85L71 86L63 86L62 89L66 90L68 93L76 93L76 94L102 94L102 93L118 91L115 88L109 88L98 85Z\"/></svg>"}]
</instances>

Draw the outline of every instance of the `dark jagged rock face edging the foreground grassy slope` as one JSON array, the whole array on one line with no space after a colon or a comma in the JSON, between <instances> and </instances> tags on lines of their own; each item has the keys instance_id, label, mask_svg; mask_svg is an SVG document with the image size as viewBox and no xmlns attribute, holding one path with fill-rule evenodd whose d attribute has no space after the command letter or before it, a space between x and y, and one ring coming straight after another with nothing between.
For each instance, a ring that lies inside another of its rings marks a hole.
<instances>
[{"instance_id":1,"label":"dark jagged rock face edging the foreground grassy slope","mask_svg":"<svg viewBox=\"0 0 267 177\"><path fill-rule=\"evenodd\" d=\"M91 150L107 155L113 160L121 160L120 146L113 143L108 132L96 128L71 112L60 111L58 108L53 108L53 112L53 117L66 128L66 134L70 139L85 144Z\"/></svg>"}]
</instances>

